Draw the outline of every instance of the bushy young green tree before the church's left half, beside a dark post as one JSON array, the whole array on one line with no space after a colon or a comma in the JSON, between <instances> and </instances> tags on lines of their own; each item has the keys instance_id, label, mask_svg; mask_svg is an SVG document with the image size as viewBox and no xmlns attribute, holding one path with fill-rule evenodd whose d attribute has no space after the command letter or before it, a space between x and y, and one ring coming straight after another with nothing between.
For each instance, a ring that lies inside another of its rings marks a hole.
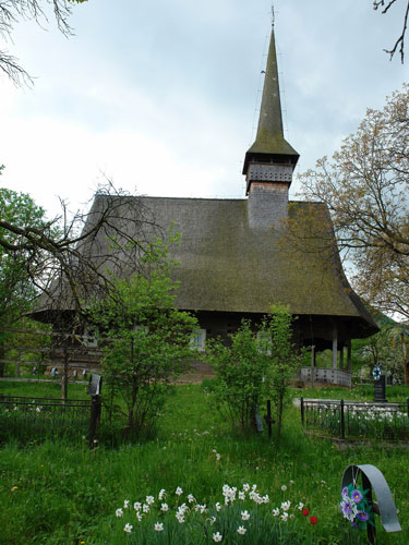
<instances>
[{"instance_id":1,"label":"bushy young green tree before the church's left half, beside a dark post","mask_svg":"<svg viewBox=\"0 0 409 545\"><path fill-rule=\"evenodd\" d=\"M191 338L199 325L176 310L171 264L160 243L143 261L148 276L117 279L87 312L104 347L104 380L111 410L127 417L128 435L152 432L170 380L189 368ZM120 399L125 405L113 404Z\"/></svg>"}]
</instances>

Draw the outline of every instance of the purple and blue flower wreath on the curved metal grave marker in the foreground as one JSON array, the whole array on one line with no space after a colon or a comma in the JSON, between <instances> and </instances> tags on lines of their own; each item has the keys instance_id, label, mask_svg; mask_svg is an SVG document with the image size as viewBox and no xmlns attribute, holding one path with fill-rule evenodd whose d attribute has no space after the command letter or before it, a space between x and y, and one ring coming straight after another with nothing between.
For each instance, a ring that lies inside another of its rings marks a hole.
<instances>
[{"instance_id":1,"label":"purple and blue flower wreath on the curved metal grave marker in the foreground","mask_svg":"<svg viewBox=\"0 0 409 545\"><path fill-rule=\"evenodd\" d=\"M353 528L365 530L366 524L374 525L374 513L366 498L368 489L352 483L345 486L341 492L340 511Z\"/></svg>"}]
</instances>

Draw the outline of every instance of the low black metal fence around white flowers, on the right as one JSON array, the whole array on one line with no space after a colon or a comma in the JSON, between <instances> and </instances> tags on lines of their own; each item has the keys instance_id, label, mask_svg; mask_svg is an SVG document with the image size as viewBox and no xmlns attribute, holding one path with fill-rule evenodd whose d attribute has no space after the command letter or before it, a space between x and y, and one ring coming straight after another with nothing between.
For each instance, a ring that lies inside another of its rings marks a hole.
<instances>
[{"instance_id":1,"label":"low black metal fence around white flowers, on the right","mask_svg":"<svg viewBox=\"0 0 409 545\"><path fill-rule=\"evenodd\" d=\"M368 403L301 398L300 409L304 428L332 437L409 440L409 399L400 403Z\"/></svg>"}]
</instances>

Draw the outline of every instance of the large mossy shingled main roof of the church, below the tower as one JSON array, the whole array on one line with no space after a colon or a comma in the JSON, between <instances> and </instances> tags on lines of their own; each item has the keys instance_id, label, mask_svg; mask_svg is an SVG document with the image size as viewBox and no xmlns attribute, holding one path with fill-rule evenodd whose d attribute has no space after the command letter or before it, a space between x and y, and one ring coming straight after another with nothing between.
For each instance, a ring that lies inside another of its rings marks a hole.
<instances>
[{"instance_id":1,"label":"large mossy shingled main roof of the church, below the tower","mask_svg":"<svg viewBox=\"0 0 409 545\"><path fill-rule=\"evenodd\" d=\"M180 283L179 308L267 313L272 304L282 303L293 314L371 320L350 289L337 254L329 249L296 251L284 244L281 234L273 228L250 228L246 199L123 197L123 217L129 217L136 198L164 230L173 225L181 235L179 245L170 247L170 257L179 263L173 270ZM99 206L103 203L96 202L94 209ZM321 229L324 220L332 229L321 204L290 203L289 214L320 221ZM129 234L139 238L139 233ZM108 242L98 241L97 253L106 254L105 244Z\"/></svg>"}]
</instances>

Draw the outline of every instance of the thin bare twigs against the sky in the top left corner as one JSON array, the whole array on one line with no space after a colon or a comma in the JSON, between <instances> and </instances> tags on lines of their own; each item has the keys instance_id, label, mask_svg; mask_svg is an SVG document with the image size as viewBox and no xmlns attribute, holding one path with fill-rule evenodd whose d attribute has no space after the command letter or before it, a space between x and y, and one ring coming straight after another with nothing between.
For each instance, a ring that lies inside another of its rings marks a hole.
<instances>
[{"instance_id":1,"label":"thin bare twigs against the sky in the top left corner","mask_svg":"<svg viewBox=\"0 0 409 545\"><path fill-rule=\"evenodd\" d=\"M0 0L0 36L10 38L14 25L20 21L35 21L39 26L48 23L46 11L51 7L58 28L69 36L72 29L68 23L71 15L72 3L83 3L87 0ZM32 77L19 64L15 57L7 50L0 50L0 70L7 74L16 85L27 82L33 83Z\"/></svg>"}]
</instances>

